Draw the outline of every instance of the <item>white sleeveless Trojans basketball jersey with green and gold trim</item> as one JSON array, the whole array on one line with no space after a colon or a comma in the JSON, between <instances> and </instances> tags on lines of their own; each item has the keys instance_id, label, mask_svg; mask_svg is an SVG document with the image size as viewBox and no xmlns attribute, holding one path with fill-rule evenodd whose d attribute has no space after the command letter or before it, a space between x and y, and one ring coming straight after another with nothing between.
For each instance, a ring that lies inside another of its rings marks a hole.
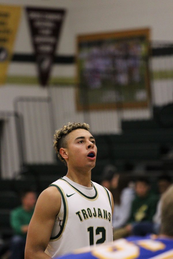
<instances>
[{"instance_id":1,"label":"white sleeveless Trojans basketball jersey with green and gold trim","mask_svg":"<svg viewBox=\"0 0 173 259\"><path fill-rule=\"evenodd\" d=\"M91 182L85 187L66 176L53 182L61 193L61 209L45 253L52 258L84 246L112 241L112 209L109 191Z\"/></svg>"}]
</instances>

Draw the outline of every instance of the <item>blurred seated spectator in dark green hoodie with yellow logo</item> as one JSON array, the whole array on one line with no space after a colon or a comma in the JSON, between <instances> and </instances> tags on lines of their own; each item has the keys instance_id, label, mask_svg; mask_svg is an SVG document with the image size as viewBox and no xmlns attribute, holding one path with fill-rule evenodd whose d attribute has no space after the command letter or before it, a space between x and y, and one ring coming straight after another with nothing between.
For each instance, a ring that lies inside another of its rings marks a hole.
<instances>
[{"instance_id":1,"label":"blurred seated spectator in dark green hoodie with yellow logo","mask_svg":"<svg viewBox=\"0 0 173 259\"><path fill-rule=\"evenodd\" d=\"M149 181L139 178L135 183L136 197L132 202L129 224L113 232L114 239L128 235L144 236L152 232L152 219L156 211L158 197L150 193Z\"/></svg>"}]
</instances>

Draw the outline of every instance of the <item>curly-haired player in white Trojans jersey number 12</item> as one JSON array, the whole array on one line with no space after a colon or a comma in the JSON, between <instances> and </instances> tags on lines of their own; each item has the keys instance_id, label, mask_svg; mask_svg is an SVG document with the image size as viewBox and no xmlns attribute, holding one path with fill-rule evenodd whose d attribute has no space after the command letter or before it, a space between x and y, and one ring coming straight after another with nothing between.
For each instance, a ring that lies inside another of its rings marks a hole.
<instances>
[{"instance_id":1,"label":"curly-haired player in white Trojans jersey number 12","mask_svg":"<svg viewBox=\"0 0 173 259\"><path fill-rule=\"evenodd\" d=\"M68 171L36 203L25 259L55 258L76 248L112 241L113 198L91 182L97 147L86 123L69 123L54 135L54 148ZM103 147L104 150L104 147Z\"/></svg>"}]
</instances>

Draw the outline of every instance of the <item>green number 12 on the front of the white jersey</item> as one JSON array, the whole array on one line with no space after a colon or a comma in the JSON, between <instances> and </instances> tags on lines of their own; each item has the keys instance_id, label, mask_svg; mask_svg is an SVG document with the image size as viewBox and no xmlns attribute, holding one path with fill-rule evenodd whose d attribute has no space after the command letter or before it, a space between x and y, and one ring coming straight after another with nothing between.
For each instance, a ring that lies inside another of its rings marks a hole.
<instances>
[{"instance_id":1,"label":"green number 12 on the front of the white jersey","mask_svg":"<svg viewBox=\"0 0 173 259\"><path fill-rule=\"evenodd\" d=\"M106 229L104 227L97 227L94 231L94 227L90 226L87 228L89 232L89 243L94 245L94 234L97 236L101 233L101 238L97 239L96 244L102 244L106 240Z\"/></svg>"}]
</instances>

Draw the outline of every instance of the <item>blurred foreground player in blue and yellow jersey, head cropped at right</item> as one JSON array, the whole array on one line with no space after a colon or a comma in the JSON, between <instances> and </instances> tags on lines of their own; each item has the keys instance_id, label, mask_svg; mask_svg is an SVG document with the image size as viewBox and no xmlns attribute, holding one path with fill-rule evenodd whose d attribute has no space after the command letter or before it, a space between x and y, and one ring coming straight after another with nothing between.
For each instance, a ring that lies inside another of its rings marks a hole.
<instances>
[{"instance_id":1,"label":"blurred foreground player in blue and yellow jersey, head cropped at right","mask_svg":"<svg viewBox=\"0 0 173 259\"><path fill-rule=\"evenodd\" d=\"M65 255L57 259L173 258L173 185L163 194L161 201L160 235L121 238L111 244L98 245L91 249L79 249L74 254Z\"/></svg>"}]
</instances>

